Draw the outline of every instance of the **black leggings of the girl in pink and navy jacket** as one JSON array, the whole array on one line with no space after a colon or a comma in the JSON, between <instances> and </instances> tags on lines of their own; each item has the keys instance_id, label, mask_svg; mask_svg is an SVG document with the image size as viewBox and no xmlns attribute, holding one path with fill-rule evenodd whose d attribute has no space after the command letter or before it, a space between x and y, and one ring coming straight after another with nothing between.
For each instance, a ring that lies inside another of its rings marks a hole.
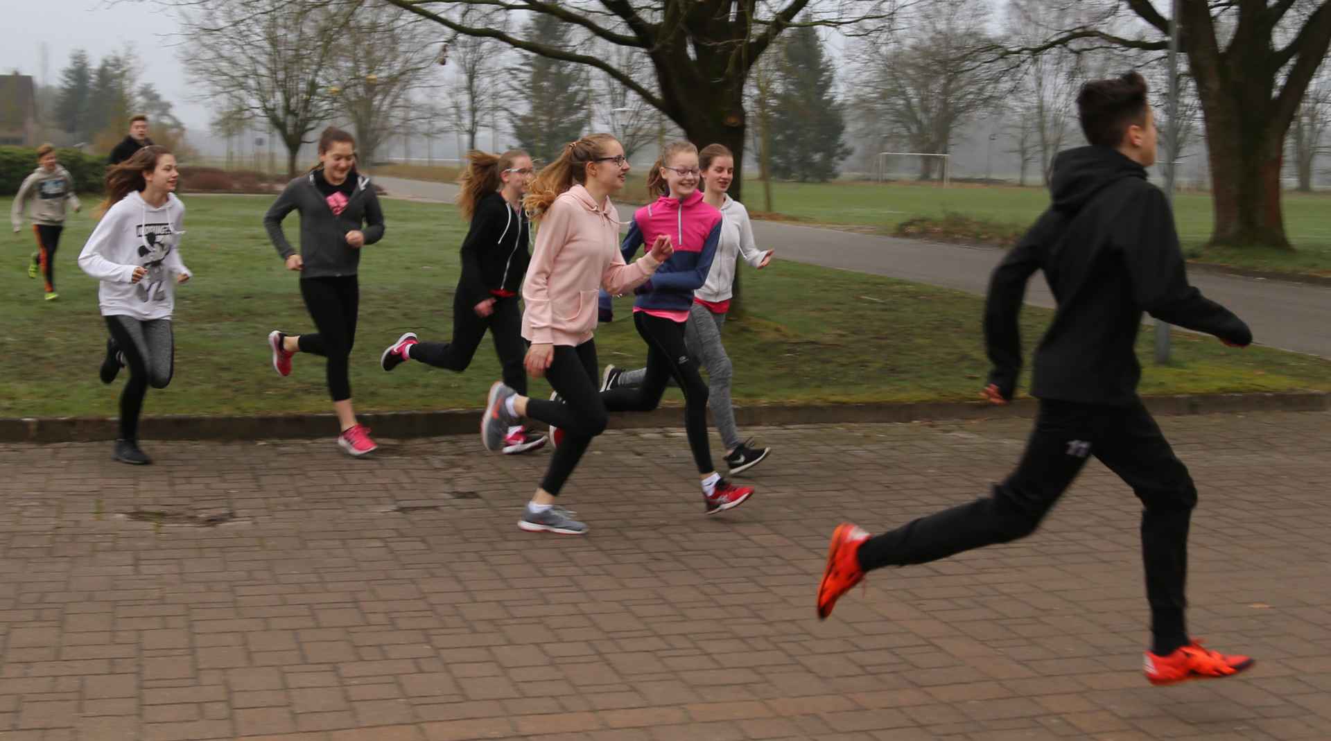
<instances>
[{"instance_id":1,"label":"black leggings of the girl in pink and navy jacket","mask_svg":"<svg viewBox=\"0 0 1331 741\"><path fill-rule=\"evenodd\" d=\"M707 384L684 347L684 322L634 313L634 326L647 342L647 375L642 386L620 387L600 395L610 411L652 411L662 403L671 379L684 391L684 430L699 474L716 471L707 443Z\"/></svg>"}]
</instances>

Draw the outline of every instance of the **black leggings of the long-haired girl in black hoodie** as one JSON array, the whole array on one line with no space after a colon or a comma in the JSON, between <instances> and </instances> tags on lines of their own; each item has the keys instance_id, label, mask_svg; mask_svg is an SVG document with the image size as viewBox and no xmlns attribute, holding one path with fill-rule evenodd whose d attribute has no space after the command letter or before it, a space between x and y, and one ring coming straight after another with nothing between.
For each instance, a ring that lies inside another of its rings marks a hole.
<instances>
[{"instance_id":1,"label":"black leggings of the long-haired girl in black hoodie","mask_svg":"<svg viewBox=\"0 0 1331 741\"><path fill-rule=\"evenodd\" d=\"M480 346L480 338L490 330L490 339L499 354L503 382L523 396L527 395L527 371L523 359L527 343L522 339L522 309L518 297L495 298L494 313L478 317L474 306L466 305L463 291L453 294L453 342L422 342L411 347L411 359L427 366L462 372Z\"/></svg>"}]
</instances>

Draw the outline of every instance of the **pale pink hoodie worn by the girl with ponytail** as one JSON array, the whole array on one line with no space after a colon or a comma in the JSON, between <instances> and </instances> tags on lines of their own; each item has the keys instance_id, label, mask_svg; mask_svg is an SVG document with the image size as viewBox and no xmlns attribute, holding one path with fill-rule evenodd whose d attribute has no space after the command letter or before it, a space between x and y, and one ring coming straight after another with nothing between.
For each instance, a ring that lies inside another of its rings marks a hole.
<instances>
[{"instance_id":1,"label":"pale pink hoodie worn by the girl with ponytail","mask_svg":"<svg viewBox=\"0 0 1331 741\"><path fill-rule=\"evenodd\" d=\"M536 249L522 283L527 303L522 337L532 345L578 346L596 330L599 289L624 294L646 283L660 266L646 254L632 265L619 253L619 221L606 198L574 185L546 210L536 230Z\"/></svg>"}]
</instances>

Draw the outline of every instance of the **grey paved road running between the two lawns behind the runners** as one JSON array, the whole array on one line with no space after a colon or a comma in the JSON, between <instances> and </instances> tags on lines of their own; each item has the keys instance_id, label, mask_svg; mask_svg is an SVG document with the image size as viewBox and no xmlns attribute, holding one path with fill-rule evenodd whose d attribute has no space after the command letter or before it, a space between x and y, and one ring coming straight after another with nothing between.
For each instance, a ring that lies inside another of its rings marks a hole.
<instances>
[{"instance_id":1,"label":"grey paved road running between the two lawns behind the runners","mask_svg":"<svg viewBox=\"0 0 1331 741\"><path fill-rule=\"evenodd\" d=\"M399 178L378 178L390 194L450 201L457 186ZM631 209L620 208L626 221ZM989 273L1002 258L1000 250L894 239L832 229L760 221L753 225L759 243L777 257L827 267L889 275L984 294ZM1260 345L1331 358L1331 287L1240 278L1194 270L1191 281L1202 293L1229 306L1252 327ZM1028 289L1028 301L1053 306L1042 279Z\"/></svg>"}]
</instances>

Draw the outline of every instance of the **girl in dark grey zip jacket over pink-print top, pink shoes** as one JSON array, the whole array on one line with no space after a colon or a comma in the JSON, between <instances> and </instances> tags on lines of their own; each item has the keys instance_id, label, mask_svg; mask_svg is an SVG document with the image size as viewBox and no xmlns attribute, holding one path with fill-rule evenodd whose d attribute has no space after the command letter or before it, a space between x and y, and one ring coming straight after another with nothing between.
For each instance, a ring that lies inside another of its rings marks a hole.
<instances>
[{"instance_id":1,"label":"girl in dark grey zip jacket over pink-print top, pink shoes","mask_svg":"<svg viewBox=\"0 0 1331 741\"><path fill-rule=\"evenodd\" d=\"M282 234L282 220L301 212L301 251ZM361 306L357 267L361 247L383 238L383 210L370 178L355 172L355 140L329 126L319 137L319 166L287 184L268 214L264 226L286 261L287 270L301 273L301 297L314 319L318 334L289 335L273 330L268 335L273 369L290 375L291 355L313 353L327 358L327 384L342 434L338 446L361 456L378 446L370 430L357 423L351 410L351 382L347 361L355 343L355 319Z\"/></svg>"}]
</instances>

